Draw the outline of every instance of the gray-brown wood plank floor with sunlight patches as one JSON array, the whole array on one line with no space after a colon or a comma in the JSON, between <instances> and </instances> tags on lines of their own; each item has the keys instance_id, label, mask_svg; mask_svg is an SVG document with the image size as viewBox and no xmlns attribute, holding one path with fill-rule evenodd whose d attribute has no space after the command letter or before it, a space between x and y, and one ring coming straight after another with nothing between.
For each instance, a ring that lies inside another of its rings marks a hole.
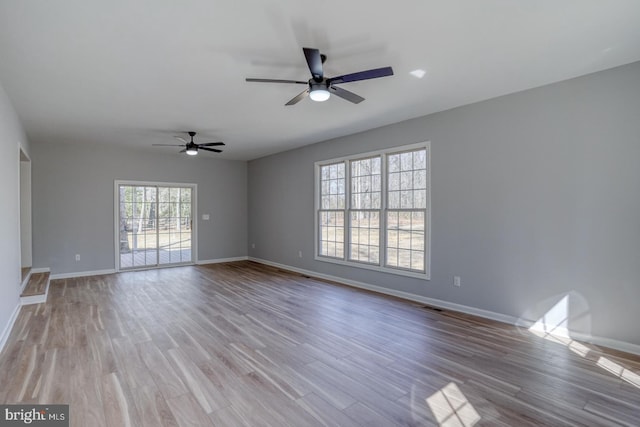
<instances>
[{"instance_id":1,"label":"gray-brown wood plank floor with sunlight patches","mask_svg":"<svg viewBox=\"0 0 640 427\"><path fill-rule=\"evenodd\" d=\"M127 272L22 308L0 402L79 427L640 425L640 358L560 341L251 262Z\"/></svg>"}]
</instances>

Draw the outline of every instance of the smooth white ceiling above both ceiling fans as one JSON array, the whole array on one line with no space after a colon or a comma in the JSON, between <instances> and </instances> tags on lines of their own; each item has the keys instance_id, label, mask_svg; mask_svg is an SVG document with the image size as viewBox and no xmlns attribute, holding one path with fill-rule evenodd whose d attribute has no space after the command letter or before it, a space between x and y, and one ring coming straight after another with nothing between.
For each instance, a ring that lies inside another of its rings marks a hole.
<instances>
[{"instance_id":1,"label":"smooth white ceiling above both ceiling fans","mask_svg":"<svg viewBox=\"0 0 640 427\"><path fill-rule=\"evenodd\" d=\"M328 76L395 75L342 85L358 105L244 81L307 80L303 46ZM172 152L150 145L195 130L248 160L638 60L639 0L0 1L0 82L35 143Z\"/></svg>"}]
</instances>

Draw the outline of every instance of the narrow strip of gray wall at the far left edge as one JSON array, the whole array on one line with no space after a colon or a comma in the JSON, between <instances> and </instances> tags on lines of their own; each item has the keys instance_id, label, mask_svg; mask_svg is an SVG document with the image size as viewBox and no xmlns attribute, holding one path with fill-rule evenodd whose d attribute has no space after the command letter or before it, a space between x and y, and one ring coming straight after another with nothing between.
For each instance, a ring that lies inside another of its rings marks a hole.
<instances>
[{"instance_id":1,"label":"narrow strip of gray wall at the far left edge","mask_svg":"<svg viewBox=\"0 0 640 427\"><path fill-rule=\"evenodd\" d=\"M20 300L20 149L29 143L0 85L0 338Z\"/></svg>"}]
</instances>

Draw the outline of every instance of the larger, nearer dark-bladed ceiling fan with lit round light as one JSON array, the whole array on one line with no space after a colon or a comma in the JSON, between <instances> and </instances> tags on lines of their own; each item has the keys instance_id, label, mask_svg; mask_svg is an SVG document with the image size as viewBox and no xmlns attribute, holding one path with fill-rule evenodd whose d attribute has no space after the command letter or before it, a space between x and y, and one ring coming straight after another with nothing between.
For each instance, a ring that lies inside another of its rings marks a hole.
<instances>
[{"instance_id":1,"label":"larger, nearer dark-bladed ceiling fan with lit round light","mask_svg":"<svg viewBox=\"0 0 640 427\"><path fill-rule=\"evenodd\" d=\"M346 99L354 104L359 104L364 101L364 98L356 95L353 92L349 92L341 87L334 86L341 83L357 82L359 80L377 79L378 77L386 77L393 75L393 69L391 67L376 68L373 70L360 71L358 73L345 74L337 77L326 78L322 69L322 64L327 60L326 55L320 54L318 49L312 49L303 47L304 57L307 60L309 71L311 71L311 78L306 81L299 80L277 80L277 79L245 79L248 82L257 83L293 83L307 85L302 93L296 95L293 99L287 102L285 105L294 105L300 102L302 99L309 96L313 101L326 101L331 94L339 96L342 99Z\"/></svg>"}]
</instances>

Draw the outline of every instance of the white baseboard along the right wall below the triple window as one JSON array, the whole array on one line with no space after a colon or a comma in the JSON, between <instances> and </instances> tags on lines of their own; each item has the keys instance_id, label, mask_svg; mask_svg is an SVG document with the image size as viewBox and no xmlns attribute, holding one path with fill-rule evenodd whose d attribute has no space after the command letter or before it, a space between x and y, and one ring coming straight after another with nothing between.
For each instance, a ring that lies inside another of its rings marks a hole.
<instances>
[{"instance_id":1,"label":"white baseboard along the right wall below the triple window","mask_svg":"<svg viewBox=\"0 0 640 427\"><path fill-rule=\"evenodd\" d=\"M378 292L385 295L391 295L398 298L403 298L413 302L419 302L422 304L438 307L446 310L458 311L460 313L471 314L474 316L482 317L485 319L496 320L498 322L507 323L520 327L531 327L535 324L534 320L526 320L522 318L516 318L507 314L496 313L493 311L483 310L481 308L470 307L467 305L456 304L449 301L443 301L435 298L429 298L422 295L411 294L408 292L397 291L395 289L384 288L381 286L371 285L369 283L358 282L355 280L344 279L342 277L332 276L329 274L317 273L311 270L305 270L302 268L292 267L290 265L279 264L277 262L268 261L261 258L249 257L249 261L254 261L260 264L269 265L271 267L281 268L283 270L294 271L296 273L304 274L309 277L315 277L318 279L330 280L332 282L342 283L355 288L366 289L373 292ZM594 345L608 347L615 350L624 351L626 353L640 355L640 345L632 344L625 341L614 340L611 338L598 337L590 334L567 332L572 338L578 341L588 342Z\"/></svg>"}]
</instances>

